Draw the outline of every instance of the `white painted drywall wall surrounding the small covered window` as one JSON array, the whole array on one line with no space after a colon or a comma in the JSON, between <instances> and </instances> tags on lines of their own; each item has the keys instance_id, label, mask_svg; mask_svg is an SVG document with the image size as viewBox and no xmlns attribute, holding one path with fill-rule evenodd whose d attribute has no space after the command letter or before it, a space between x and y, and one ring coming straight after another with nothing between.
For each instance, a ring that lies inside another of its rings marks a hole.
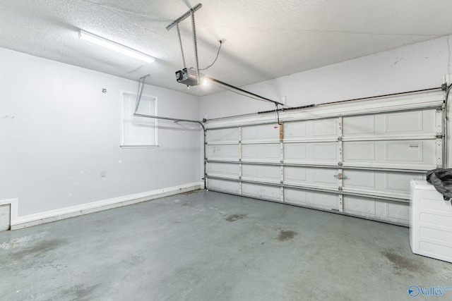
<instances>
[{"instance_id":1,"label":"white painted drywall wall surrounding the small covered window","mask_svg":"<svg viewBox=\"0 0 452 301\"><path fill-rule=\"evenodd\" d=\"M18 217L201 182L198 125L159 121L159 147L119 147L121 93L138 82L8 49L0 66L0 199ZM143 94L160 116L198 119L198 97Z\"/></svg>"}]
</instances>

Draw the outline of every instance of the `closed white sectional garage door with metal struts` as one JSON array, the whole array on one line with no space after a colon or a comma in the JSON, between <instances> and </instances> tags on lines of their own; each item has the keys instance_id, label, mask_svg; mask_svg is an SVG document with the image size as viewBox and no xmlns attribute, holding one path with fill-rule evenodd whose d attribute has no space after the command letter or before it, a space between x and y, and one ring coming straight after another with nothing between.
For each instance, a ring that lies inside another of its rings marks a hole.
<instances>
[{"instance_id":1,"label":"closed white sectional garage door with metal struts","mask_svg":"<svg viewBox=\"0 0 452 301\"><path fill-rule=\"evenodd\" d=\"M281 125L210 121L207 188L406 226L410 179L443 163L442 105L436 93L291 111Z\"/></svg>"}]
</instances>

